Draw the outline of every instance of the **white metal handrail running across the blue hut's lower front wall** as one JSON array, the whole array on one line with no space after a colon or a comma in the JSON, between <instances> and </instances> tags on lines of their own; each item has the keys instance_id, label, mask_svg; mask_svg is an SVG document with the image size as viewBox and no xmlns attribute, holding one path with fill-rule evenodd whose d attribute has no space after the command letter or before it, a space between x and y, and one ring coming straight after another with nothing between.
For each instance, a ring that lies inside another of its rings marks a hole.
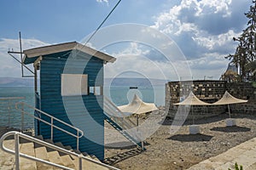
<instances>
[{"instance_id":1,"label":"white metal handrail running across the blue hut's lower front wall","mask_svg":"<svg viewBox=\"0 0 256 170\"><path fill-rule=\"evenodd\" d=\"M18 107L18 105L22 105L22 109L20 109L20 108ZM27 107L31 108L31 109L34 110L34 111L38 111L38 112L40 112L41 114L43 114L43 115L45 115L45 116L48 116L48 117L50 118L50 123L47 122L47 121L45 121L45 120L43 120L43 119L41 119L41 118L38 117L38 116L34 116L34 115L32 115L32 114L30 114L30 113L24 111L24 105L26 105ZM16 108L16 110L21 111L21 114L22 114L22 116L21 116L21 124L23 124L23 122L24 122L24 114L26 114L26 115L28 115L28 116L31 116L32 118L35 118L35 119L37 119L38 121L44 122L45 124L48 124L48 125L50 126L50 139L51 139L51 140L53 140L53 137L54 137L54 135L53 135L53 133L54 133L53 128L54 128L54 127L55 127L56 129L58 129L58 130L61 130L61 131L64 132L64 133L67 133L67 134L69 134L69 135L75 137L75 138L77 139L77 150L79 150L79 138L81 138L82 136L84 136L84 132L83 132L82 130L80 130L78 127L73 127L72 125L68 124L67 122L63 122L63 121L61 121L60 119L55 118L55 116L51 116L51 115L49 115L48 113L45 113L44 111L38 110L37 108L33 107L32 105L27 105L25 102L18 102L18 103L16 103L16 104L15 104L15 108ZM67 130L61 128L61 127L55 126L55 125L54 125L54 121L61 122L62 124L66 125L67 127L71 127L71 128L73 128L73 129L75 129L75 130L77 131L77 134L70 133L70 132L68 132ZM22 129L22 127L21 127L21 129Z\"/></svg>"}]
</instances>

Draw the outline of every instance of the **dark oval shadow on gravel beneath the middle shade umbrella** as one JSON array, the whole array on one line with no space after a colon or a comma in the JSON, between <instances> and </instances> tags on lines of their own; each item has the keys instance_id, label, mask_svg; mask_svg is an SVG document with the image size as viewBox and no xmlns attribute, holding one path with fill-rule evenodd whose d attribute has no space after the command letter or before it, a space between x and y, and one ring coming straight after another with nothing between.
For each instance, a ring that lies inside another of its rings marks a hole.
<instances>
[{"instance_id":1,"label":"dark oval shadow on gravel beneath the middle shade umbrella","mask_svg":"<svg viewBox=\"0 0 256 170\"><path fill-rule=\"evenodd\" d=\"M182 142L201 142L201 141L210 141L212 136L206 134L176 134L171 136L171 140L178 140Z\"/></svg>"}]
</instances>

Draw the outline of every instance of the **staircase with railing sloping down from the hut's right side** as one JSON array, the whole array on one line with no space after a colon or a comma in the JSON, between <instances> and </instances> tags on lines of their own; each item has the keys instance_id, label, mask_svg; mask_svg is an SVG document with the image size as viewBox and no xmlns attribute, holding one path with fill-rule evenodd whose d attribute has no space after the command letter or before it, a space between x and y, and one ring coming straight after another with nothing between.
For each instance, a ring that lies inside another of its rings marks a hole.
<instances>
[{"instance_id":1,"label":"staircase with railing sloping down from the hut's right side","mask_svg":"<svg viewBox=\"0 0 256 170\"><path fill-rule=\"evenodd\" d=\"M119 108L106 97L104 98L103 111L106 122L119 131L126 139L131 141L131 143L136 144L139 150L145 150L143 141L138 134L136 124L125 116L122 111L119 111Z\"/></svg>"}]
</instances>

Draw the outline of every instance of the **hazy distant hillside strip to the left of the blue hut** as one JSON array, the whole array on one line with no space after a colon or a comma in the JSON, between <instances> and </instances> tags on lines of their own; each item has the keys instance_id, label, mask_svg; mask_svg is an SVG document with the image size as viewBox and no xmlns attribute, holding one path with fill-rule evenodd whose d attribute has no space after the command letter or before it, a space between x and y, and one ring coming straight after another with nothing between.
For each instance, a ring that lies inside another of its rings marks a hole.
<instances>
[{"instance_id":1,"label":"hazy distant hillside strip to the left of the blue hut","mask_svg":"<svg viewBox=\"0 0 256 170\"><path fill-rule=\"evenodd\" d=\"M26 87L33 85L33 78L0 77L0 87Z\"/></svg>"}]
</instances>

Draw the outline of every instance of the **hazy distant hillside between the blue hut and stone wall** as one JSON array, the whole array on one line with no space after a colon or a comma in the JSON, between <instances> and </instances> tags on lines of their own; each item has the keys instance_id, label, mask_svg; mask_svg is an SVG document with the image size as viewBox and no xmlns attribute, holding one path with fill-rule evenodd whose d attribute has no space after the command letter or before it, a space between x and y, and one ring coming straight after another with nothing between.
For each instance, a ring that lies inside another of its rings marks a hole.
<instances>
[{"instance_id":1,"label":"hazy distant hillside between the blue hut and stone wall","mask_svg":"<svg viewBox=\"0 0 256 170\"><path fill-rule=\"evenodd\" d=\"M105 78L105 86L157 86L165 85L168 80L147 79L147 78ZM111 82L112 81L112 82Z\"/></svg>"}]
</instances>

